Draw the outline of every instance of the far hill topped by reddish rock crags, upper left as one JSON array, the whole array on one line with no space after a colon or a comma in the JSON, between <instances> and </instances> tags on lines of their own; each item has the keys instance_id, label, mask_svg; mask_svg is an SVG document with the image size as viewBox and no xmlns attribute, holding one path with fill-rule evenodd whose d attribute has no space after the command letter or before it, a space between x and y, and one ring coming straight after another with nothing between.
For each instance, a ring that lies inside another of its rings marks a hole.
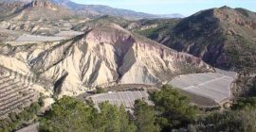
<instances>
[{"instance_id":1,"label":"far hill topped by reddish rock crags, upper left","mask_svg":"<svg viewBox=\"0 0 256 132\"><path fill-rule=\"evenodd\" d=\"M14 2L16 3L16 2ZM2 2L2 7L13 5L11 2ZM5 19L12 20L60 20L72 18L74 12L50 0L19 1L20 5L12 8L19 8L12 11Z\"/></svg>"}]
</instances>

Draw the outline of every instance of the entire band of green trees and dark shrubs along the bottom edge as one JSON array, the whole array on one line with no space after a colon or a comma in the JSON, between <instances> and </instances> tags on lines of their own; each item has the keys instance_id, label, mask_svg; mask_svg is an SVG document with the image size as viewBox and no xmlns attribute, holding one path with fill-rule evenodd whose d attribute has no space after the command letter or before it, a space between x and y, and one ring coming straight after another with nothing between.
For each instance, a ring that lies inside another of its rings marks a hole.
<instances>
[{"instance_id":1,"label":"entire band of green trees and dark shrubs along the bottom edge","mask_svg":"<svg viewBox=\"0 0 256 132\"><path fill-rule=\"evenodd\" d=\"M230 110L199 112L190 100L171 86L150 93L155 104L137 100L133 114L124 107L92 102L84 104L64 96L41 119L41 131L64 132L169 132L256 131L255 98L239 100ZM200 114L198 114L200 113Z\"/></svg>"}]
</instances>

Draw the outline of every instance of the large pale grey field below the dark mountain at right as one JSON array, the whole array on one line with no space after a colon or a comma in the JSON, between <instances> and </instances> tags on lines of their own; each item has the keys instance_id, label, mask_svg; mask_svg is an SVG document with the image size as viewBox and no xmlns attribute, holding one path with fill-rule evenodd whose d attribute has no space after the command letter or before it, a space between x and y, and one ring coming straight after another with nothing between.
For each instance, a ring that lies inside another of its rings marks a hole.
<instances>
[{"instance_id":1,"label":"large pale grey field below the dark mountain at right","mask_svg":"<svg viewBox=\"0 0 256 132\"><path fill-rule=\"evenodd\" d=\"M211 106L212 102L208 104L203 99L212 100L216 104L225 103L231 97L231 85L233 81L234 77L231 75L205 73L179 75L169 82L169 84L191 95L192 100L198 97L202 98L201 102L197 99L196 104Z\"/></svg>"}]
</instances>

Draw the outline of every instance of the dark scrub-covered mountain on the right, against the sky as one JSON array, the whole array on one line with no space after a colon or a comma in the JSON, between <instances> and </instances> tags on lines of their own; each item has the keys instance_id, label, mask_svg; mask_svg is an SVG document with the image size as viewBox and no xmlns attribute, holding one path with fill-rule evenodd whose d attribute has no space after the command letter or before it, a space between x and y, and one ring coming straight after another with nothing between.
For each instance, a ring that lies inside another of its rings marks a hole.
<instances>
[{"instance_id":1,"label":"dark scrub-covered mountain on the right, against the sky","mask_svg":"<svg viewBox=\"0 0 256 132\"><path fill-rule=\"evenodd\" d=\"M244 8L210 8L146 36L226 70L256 68L256 13ZM159 34L159 35L158 35Z\"/></svg>"}]
</instances>

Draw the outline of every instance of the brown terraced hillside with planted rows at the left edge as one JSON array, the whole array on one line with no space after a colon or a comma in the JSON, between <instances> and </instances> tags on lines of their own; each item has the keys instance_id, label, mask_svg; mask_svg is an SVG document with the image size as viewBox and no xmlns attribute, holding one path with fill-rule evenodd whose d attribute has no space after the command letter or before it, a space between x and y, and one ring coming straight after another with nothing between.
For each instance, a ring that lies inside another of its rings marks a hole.
<instances>
[{"instance_id":1,"label":"brown terraced hillside with planted rows at the left edge","mask_svg":"<svg viewBox=\"0 0 256 132\"><path fill-rule=\"evenodd\" d=\"M0 119L37 100L32 79L0 67Z\"/></svg>"}]
</instances>

